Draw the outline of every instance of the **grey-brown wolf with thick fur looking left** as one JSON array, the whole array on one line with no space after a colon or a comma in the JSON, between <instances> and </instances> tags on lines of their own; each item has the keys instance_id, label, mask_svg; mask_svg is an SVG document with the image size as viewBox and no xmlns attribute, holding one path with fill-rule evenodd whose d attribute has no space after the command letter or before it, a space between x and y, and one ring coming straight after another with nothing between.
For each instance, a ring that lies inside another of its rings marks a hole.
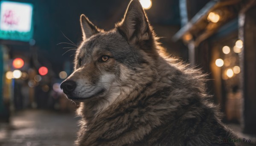
<instances>
[{"instance_id":1,"label":"grey-brown wolf with thick fur looking left","mask_svg":"<svg viewBox=\"0 0 256 146\"><path fill-rule=\"evenodd\" d=\"M230 145L236 135L221 122L206 92L206 75L158 43L139 0L110 31L80 17L82 42L74 72L61 83L80 103L77 146Z\"/></svg>"}]
</instances>

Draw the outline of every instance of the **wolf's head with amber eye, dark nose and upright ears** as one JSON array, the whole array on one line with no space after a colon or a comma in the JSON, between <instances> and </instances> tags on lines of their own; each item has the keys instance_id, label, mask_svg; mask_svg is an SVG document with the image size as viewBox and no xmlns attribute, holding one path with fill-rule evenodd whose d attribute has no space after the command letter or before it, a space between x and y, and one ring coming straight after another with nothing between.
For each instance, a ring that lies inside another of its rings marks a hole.
<instances>
[{"instance_id":1,"label":"wolf's head with amber eye, dark nose and upright ears","mask_svg":"<svg viewBox=\"0 0 256 146\"><path fill-rule=\"evenodd\" d=\"M130 2L122 21L110 31L98 29L83 14L80 23L83 41L74 72L61 83L70 100L106 107L154 80L157 45L139 0Z\"/></svg>"}]
</instances>

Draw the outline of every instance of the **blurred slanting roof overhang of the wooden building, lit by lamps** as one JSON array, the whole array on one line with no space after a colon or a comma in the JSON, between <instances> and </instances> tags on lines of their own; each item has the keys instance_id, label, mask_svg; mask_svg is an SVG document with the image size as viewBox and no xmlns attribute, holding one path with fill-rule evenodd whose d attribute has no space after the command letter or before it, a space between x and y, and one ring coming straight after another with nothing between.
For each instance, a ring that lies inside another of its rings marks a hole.
<instances>
[{"instance_id":1,"label":"blurred slanting roof overhang of the wooden building, lit by lamps","mask_svg":"<svg viewBox=\"0 0 256 146\"><path fill-rule=\"evenodd\" d=\"M194 17L183 26L172 40L193 41L198 46L214 34L221 26L238 16L241 8L248 1L256 0L212 0L209 1ZM217 23L207 20L211 12L217 12L220 19Z\"/></svg>"}]
</instances>

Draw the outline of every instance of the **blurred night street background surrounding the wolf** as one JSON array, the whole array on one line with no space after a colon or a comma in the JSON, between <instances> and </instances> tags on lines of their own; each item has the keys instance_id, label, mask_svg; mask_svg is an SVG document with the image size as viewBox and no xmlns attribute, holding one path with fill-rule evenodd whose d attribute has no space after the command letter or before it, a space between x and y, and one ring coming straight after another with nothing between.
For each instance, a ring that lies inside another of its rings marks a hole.
<instances>
[{"instance_id":1,"label":"blurred night street background surrounding the wolf","mask_svg":"<svg viewBox=\"0 0 256 146\"><path fill-rule=\"evenodd\" d=\"M223 121L256 144L256 0L140 0L173 56L209 74ZM72 146L79 117L60 83L79 17L110 30L129 0L0 0L0 145Z\"/></svg>"}]
</instances>

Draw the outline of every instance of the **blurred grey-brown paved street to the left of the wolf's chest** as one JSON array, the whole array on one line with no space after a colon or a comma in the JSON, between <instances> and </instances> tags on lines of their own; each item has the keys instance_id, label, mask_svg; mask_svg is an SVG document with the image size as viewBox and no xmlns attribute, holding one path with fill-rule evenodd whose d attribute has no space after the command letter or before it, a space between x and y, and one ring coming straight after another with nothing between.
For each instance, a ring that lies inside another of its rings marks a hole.
<instances>
[{"instance_id":1,"label":"blurred grey-brown paved street to the left of the wolf's chest","mask_svg":"<svg viewBox=\"0 0 256 146\"><path fill-rule=\"evenodd\" d=\"M79 117L44 110L18 112L0 123L0 146L73 146Z\"/></svg>"}]
</instances>

